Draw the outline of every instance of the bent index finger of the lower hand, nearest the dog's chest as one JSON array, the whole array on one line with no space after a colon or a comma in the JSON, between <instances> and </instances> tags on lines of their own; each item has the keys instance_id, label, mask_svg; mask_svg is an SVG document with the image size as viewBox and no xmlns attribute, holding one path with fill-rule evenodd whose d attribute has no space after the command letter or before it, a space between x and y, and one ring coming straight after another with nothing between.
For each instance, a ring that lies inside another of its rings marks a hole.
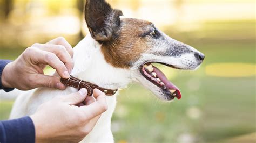
<instances>
[{"instance_id":1,"label":"bent index finger of the lower hand, nearest the dog's chest","mask_svg":"<svg viewBox=\"0 0 256 143\"><path fill-rule=\"evenodd\" d=\"M102 91L94 89L93 96L96 98L95 102L80 107L89 119L94 118L107 110L106 95Z\"/></svg>"}]
</instances>

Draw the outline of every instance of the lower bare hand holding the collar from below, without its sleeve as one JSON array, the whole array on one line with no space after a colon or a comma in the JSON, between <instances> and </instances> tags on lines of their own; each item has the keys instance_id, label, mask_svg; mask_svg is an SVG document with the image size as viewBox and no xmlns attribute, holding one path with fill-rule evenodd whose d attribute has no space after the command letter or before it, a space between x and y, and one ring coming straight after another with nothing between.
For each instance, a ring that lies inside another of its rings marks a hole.
<instances>
[{"instance_id":1,"label":"lower bare hand holding the collar from below, without its sleeve","mask_svg":"<svg viewBox=\"0 0 256 143\"><path fill-rule=\"evenodd\" d=\"M43 103L31 119L35 125L36 142L78 142L90 133L100 115L107 110L106 95L85 88L67 96L56 96ZM84 106L75 106L78 104Z\"/></svg>"}]
</instances>

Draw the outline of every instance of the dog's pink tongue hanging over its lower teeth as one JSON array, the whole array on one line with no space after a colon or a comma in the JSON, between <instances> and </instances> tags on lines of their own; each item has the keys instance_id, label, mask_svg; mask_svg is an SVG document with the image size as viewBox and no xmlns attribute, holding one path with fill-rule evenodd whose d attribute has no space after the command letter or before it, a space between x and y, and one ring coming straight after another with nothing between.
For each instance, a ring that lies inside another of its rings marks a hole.
<instances>
[{"instance_id":1,"label":"dog's pink tongue hanging over its lower teeth","mask_svg":"<svg viewBox=\"0 0 256 143\"><path fill-rule=\"evenodd\" d=\"M181 98L181 92L179 90L178 87L176 87L174 84L172 84L168 79L167 77L164 75L164 73L159 70L157 67L154 67L153 66L153 69L154 69L154 72L157 73L157 76L158 78L166 85L166 87L168 89L175 89L176 90L176 97L177 99L180 99Z\"/></svg>"}]
</instances>

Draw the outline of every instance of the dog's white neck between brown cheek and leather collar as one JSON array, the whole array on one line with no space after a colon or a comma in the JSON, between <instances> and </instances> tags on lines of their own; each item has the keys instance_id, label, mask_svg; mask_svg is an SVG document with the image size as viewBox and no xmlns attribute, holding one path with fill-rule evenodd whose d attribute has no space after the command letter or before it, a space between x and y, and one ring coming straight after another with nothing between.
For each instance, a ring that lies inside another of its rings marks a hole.
<instances>
[{"instance_id":1,"label":"dog's white neck between brown cheek and leather collar","mask_svg":"<svg viewBox=\"0 0 256 143\"><path fill-rule=\"evenodd\" d=\"M74 48L71 75L103 88L124 88L131 80L128 69L114 68L104 59L100 44L90 34Z\"/></svg>"}]
</instances>

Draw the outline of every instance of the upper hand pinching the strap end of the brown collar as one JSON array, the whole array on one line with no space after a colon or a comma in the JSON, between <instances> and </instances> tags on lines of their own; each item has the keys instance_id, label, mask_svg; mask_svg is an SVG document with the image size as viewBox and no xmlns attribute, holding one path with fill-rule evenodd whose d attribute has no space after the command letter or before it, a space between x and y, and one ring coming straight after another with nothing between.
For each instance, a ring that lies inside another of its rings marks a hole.
<instances>
[{"instance_id":1,"label":"upper hand pinching the strap end of the brown collar","mask_svg":"<svg viewBox=\"0 0 256 143\"><path fill-rule=\"evenodd\" d=\"M73 68L73 49L59 37L46 44L33 44L14 61L5 66L2 84L5 88L30 90L37 87L65 89L56 76L44 75L46 65L57 70L63 78L69 78Z\"/></svg>"}]
</instances>

